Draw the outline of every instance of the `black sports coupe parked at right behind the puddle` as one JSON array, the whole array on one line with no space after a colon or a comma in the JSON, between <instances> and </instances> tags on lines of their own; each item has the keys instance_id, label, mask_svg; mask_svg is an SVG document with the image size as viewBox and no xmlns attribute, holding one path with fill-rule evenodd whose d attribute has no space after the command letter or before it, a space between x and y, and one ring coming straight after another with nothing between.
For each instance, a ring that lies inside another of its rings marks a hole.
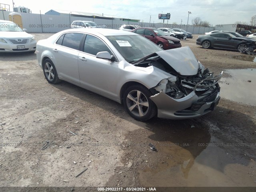
<instances>
[{"instance_id":1,"label":"black sports coupe parked at right behind the puddle","mask_svg":"<svg viewBox=\"0 0 256 192\"><path fill-rule=\"evenodd\" d=\"M214 47L238 50L239 52L242 52L249 47L256 49L256 40L236 37L230 33L224 32L199 36L196 40L196 44L201 45L205 49Z\"/></svg>"}]
</instances>

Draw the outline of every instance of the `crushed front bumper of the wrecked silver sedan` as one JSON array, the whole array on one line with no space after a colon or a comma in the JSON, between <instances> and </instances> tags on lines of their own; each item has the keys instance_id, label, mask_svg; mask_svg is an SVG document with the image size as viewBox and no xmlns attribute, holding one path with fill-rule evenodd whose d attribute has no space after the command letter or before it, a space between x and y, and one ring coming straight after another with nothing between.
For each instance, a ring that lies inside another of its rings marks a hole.
<instances>
[{"instance_id":1,"label":"crushed front bumper of the wrecked silver sedan","mask_svg":"<svg viewBox=\"0 0 256 192\"><path fill-rule=\"evenodd\" d=\"M218 81L222 77L223 72L218 76L208 76L200 83L196 84L194 90L187 96L174 99L165 94L163 91L151 96L150 99L158 108L158 117L166 119L187 119L202 116L218 105L220 100L220 86ZM203 91L210 85L204 85L206 80L214 80L212 90L204 92L204 94L196 94L197 91Z\"/></svg>"}]
</instances>

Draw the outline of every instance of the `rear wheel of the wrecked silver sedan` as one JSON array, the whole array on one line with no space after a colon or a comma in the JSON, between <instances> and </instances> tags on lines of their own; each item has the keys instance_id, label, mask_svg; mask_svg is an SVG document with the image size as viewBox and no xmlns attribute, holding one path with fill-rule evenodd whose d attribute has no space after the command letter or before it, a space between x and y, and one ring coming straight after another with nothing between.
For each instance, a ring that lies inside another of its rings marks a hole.
<instances>
[{"instance_id":1,"label":"rear wheel of the wrecked silver sedan","mask_svg":"<svg viewBox=\"0 0 256 192\"><path fill-rule=\"evenodd\" d=\"M50 59L44 60L42 67L44 71L44 76L49 83L56 84L61 81L58 78L58 73L52 60Z\"/></svg>"}]
</instances>

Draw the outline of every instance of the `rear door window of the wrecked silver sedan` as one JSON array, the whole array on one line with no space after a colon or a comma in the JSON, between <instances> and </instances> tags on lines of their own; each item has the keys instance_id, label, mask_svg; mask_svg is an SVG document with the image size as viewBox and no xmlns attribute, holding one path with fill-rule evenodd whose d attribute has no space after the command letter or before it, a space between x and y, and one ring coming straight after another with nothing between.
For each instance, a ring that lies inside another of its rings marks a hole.
<instances>
[{"instance_id":1,"label":"rear door window of the wrecked silver sedan","mask_svg":"<svg viewBox=\"0 0 256 192\"><path fill-rule=\"evenodd\" d=\"M79 45L82 40L82 36L82 33L66 33L62 40L62 46L79 50Z\"/></svg>"}]
</instances>

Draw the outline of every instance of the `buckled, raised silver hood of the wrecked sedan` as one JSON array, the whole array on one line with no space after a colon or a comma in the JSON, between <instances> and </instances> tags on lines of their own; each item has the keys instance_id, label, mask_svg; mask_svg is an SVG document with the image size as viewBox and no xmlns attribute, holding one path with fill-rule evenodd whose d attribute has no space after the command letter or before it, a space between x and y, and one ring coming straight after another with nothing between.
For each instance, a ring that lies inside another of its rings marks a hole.
<instances>
[{"instance_id":1,"label":"buckled, raised silver hood of the wrecked sedan","mask_svg":"<svg viewBox=\"0 0 256 192\"><path fill-rule=\"evenodd\" d=\"M188 46L158 51L156 54L181 75L190 76L198 73L199 62Z\"/></svg>"}]
</instances>

